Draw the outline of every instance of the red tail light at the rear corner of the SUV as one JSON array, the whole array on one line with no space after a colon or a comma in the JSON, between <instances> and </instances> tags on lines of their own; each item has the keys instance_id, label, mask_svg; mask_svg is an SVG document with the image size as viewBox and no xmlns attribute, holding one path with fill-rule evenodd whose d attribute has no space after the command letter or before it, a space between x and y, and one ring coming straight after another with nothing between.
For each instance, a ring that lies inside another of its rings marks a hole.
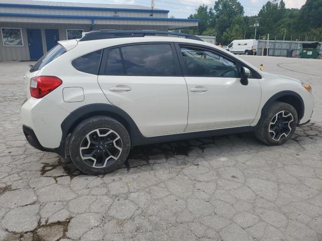
<instances>
[{"instance_id":1,"label":"red tail light at the rear corner of the SUV","mask_svg":"<svg viewBox=\"0 0 322 241\"><path fill-rule=\"evenodd\" d=\"M49 94L59 85L62 81L55 76L36 76L30 80L30 94L37 99Z\"/></svg>"}]
</instances>

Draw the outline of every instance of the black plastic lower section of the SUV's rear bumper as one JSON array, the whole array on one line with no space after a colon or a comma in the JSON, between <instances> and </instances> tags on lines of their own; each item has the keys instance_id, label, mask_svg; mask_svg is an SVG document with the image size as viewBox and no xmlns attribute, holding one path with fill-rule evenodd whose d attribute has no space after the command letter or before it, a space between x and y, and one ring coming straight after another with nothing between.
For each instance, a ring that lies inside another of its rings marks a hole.
<instances>
[{"instance_id":1,"label":"black plastic lower section of the SUV's rear bumper","mask_svg":"<svg viewBox=\"0 0 322 241\"><path fill-rule=\"evenodd\" d=\"M43 151L43 152L54 152L62 157L65 156L65 143L64 142L61 142L59 147L57 147L57 148L45 148L39 143L35 132L30 127L23 125L22 129L24 131L24 134L25 134L25 137L26 137L28 143L32 147L34 147L40 151Z\"/></svg>"}]
</instances>

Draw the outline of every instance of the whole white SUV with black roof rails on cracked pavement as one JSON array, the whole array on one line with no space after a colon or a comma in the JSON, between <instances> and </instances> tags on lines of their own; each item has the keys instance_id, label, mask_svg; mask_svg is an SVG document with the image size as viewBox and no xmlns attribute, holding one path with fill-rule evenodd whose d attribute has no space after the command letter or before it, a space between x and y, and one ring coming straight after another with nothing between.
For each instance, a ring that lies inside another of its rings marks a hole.
<instances>
[{"instance_id":1,"label":"whole white SUV with black roof rails on cracked pavement","mask_svg":"<svg viewBox=\"0 0 322 241\"><path fill-rule=\"evenodd\" d=\"M58 43L26 74L23 130L88 174L115 170L132 146L250 131L280 145L310 121L309 85L192 35L99 31Z\"/></svg>"}]
</instances>

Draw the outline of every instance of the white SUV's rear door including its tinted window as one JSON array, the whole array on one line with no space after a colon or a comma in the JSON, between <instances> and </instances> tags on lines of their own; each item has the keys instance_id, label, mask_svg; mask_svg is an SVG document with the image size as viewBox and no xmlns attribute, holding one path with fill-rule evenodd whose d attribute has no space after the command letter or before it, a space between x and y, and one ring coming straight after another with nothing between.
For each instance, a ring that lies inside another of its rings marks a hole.
<instances>
[{"instance_id":1,"label":"white SUV's rear door including its tinted window","mask_svg":"<svg viewBox=\"0 0 322 241\"><path fill-rule=\"evenodd\" d=\"M104 50L98 82L144 136L180 133L187 126L187 85L175 53L172 43Z\"/></svg>"}]
</instances>

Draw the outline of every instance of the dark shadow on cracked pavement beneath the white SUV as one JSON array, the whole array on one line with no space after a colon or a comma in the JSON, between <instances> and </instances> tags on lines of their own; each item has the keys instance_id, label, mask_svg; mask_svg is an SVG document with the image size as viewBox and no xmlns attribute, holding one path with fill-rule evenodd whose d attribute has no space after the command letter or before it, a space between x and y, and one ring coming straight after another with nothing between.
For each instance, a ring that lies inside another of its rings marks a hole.
<instances>
[{"instance_id":1,"label":"dark shadow on cracked pavement beneath the white SUV","mask_svg":"<svg viewBox=\"0 0 322 241\"><path fill-rule=\"evenodd\" d=\"M225 136L215 136L208 138L199 138L199 139L189 139L178 142L168 142L168 143L159 143L152 145L144 146L135 146L131 149L127 160L120 169L126 169L127 172L131 168L140 167L144 165L152 165L150 163L151 157L162 156L163 158L170 159L172 157L179 156L200 156L207 148L217 148L218 153L229 152L229 150L235 149L238 150L250 149L250 146L263 146L264 144L260 143L254 133L243 133L243 134L233 134ZM264 145L265 146L265 145ZM154 162L157 162L153 160ZM77 176L84 174L77 170L73 165L70 158L66 160L59 158L57 163L62 165L65 172L71 176ZM183 165L182 162L178 162L178 165ZM47 170L52 170L46 168ZM107 174L109 175L109 174Z\"/></svg>"}]
</instances>

